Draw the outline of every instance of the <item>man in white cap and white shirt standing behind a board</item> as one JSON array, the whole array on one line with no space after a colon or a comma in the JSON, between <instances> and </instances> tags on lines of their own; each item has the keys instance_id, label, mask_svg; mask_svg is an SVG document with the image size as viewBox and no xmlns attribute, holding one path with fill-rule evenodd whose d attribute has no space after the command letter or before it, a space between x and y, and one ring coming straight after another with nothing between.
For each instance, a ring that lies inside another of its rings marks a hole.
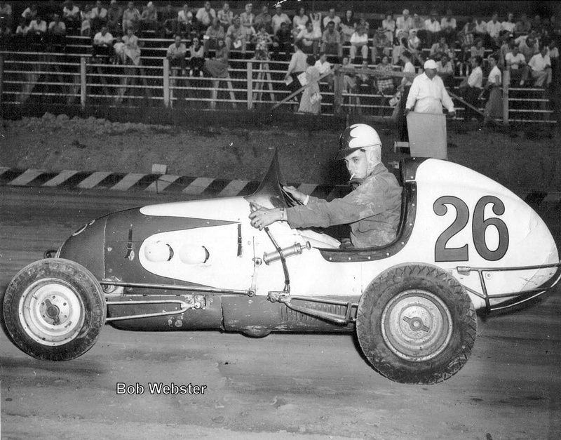
<instances>
[{"instance_id":1,"label":"man in white cap and white shirt standing behind a board","mask_svg":"<svg viewBox=\"0 0 561 440\"><path fill-rule=\"evenodd\" d=\"M454 103L446 91L442 78L436 74L438 66L435 60L426 60L424 73L416 76L411 85L405 114L417 113L442 113L442 105L446 107L450 116L455 116Z\"/></svg>"}]
</instances>

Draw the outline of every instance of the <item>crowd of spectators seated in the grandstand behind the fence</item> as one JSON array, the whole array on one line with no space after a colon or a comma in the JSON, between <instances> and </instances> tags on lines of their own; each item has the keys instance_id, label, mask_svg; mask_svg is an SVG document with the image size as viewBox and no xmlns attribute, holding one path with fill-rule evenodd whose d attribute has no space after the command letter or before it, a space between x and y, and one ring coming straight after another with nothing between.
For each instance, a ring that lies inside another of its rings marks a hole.
<instances>
[{"instance_id":1,"label":"crowd of spectators seated in the grandstand behind the fence","mask_svg":"<svg viewBox=\"0 0 561 440\"><path fill-rule=\"evenodd\" d=\"M93 56L138 65L143 38L173 39L167 58L180 75L208 73L206 62L217 51L227 66L231 51L242 58L289 61L301 50L306 58L296 72L309 68L306 59L311 55L318 60L316 69L323 68L323 72L326 60L346 65L350 89L361 81L372 81L386 94L393 93L399 81L391 76L367 79L353 74L351 67L358 65L357 60L364 67L374 65L391 72L393 66L405 64L404 54L417 69L431 58L438 62L438 74L446 86L452 86L456 72L461 74L458 66L471 66L466 69L471 74L464 86L477 90L469 96L484 88L482 73L472 77L473 72L482 70L478 67L508 69L517 86L547 88L558 62L561 23L555 15L529 18L525 13L503 10L487 20L479 16L460 20L450 9L434 10L428 16L405 9L399 14L376 11L383 18L369 21L352 10L310 12L303 6L291 17L283 10L283 3L270 9L267 4L254 8L252 3L236 2L233 8L228 2L205 1L198 7L184 4L175 8L158 1L141 5L97 0L91 6L50 0L29 4L15 13L8 2L0 1L0 42L20 49L65 51L67 34L79 34L91 39ZM169 41L163 44L167 46ZM496 62L489 61L491 54ZM322 56L324 61L320 62Z\"/></svg>"}]
</instances>

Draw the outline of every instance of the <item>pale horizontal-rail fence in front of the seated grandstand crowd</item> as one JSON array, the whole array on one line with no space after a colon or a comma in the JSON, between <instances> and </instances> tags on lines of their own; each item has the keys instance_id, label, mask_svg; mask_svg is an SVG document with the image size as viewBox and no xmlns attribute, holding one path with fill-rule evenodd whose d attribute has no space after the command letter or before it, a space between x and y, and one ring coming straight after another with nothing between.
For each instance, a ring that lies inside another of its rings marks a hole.
<instances>
[{"instance_id":1,"label":"pale horizontal-rail fence in front of the seated grandstand crowd","mask_svg":"<svg viewBox=\"0 0 561 440\"><path fill-rule=\"evenodd\" d=\"M4 116L26 103L79 104L83 108L90 105L185 107L205 111L280 107L292 112L297 111L298 103L282 102L290 95L283 80L287 68L285 61L237 58L231 60L229 78L224 79L183 76L162 57L143 60L135 66L113 64L107 58L94 59L86 54L1 51L0 105ZM357 69L356 72L373 71ZM372 81L358 86L356 91L343 93L342 75L336 67L332 90L327 81L320 81L322 114L391 118L394 108L389 104L391 96L381 95L372 87ZM509 83L508 72L504 72L504 123L555 123L543 88L513 88ZM279 106L278 102L282 104ZM454 104L461 119L464 108L461 102ZM482 101L479 107L483 105Z\"/></svg>"}]
</instances>

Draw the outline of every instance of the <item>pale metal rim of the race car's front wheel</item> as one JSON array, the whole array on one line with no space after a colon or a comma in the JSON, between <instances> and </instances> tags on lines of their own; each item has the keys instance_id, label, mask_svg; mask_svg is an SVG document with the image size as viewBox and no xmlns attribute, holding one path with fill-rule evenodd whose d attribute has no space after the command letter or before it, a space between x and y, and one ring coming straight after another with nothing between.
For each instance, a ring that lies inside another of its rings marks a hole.
<instances>
[{"instance_id":1,"label":"pale metal rim of the race car's front wheel","mask_svg":"<svg viewBox=\"0 0 561 440\"><path fill-rule=\"evenodd\" d=\"M72 286L56 278L35 281L23 293L18 307L25 333L42 345L72 341L83 326L83 302Z\"/></svg>"}]
</instances>

